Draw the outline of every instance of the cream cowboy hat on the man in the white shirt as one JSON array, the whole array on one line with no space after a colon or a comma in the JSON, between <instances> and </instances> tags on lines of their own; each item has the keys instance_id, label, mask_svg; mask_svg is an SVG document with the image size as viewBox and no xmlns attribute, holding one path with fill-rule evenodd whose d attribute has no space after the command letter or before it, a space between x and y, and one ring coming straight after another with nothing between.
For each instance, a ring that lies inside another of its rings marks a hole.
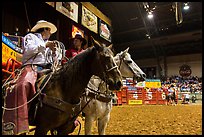
<instances>
[{"instance_id":1,"label":"cream cowboy hat on the man in the white shirt","mask_svg":"<svg viewBox=\"0 0 204 137\"><path fill-rule=\"evenodd\" d=\"M31 29L31 32L36 32L40 28L50 28L50 33L55 33L57 31L57 27L45 20L39 20L36 25Z\"/></svg>"}]
</instances>

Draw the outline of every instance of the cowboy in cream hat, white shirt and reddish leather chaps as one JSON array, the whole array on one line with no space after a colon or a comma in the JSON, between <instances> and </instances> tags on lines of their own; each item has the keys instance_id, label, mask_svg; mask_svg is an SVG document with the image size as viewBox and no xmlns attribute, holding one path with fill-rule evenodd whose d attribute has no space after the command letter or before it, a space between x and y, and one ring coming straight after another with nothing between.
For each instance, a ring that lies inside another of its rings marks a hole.
<instances>
[{"instance_id":1,"label":"cowboy in cream hat, white shirt and reddish leather chaps","mask_svg":"<svg viewBox=\"0 0 204 137\"><path fill-rule=\"evenodd\" d=\"M54 41L49 41L50 36L56 31L54 24L40 20L31 29L33 33L28 33L24 37L21 70L9 82L5 91L6 107L3 113L3 123L14 125L13 134L29 132L28 110L30 106L28 101L36 93L35 83L39 77L38 72L51 69L52 64L47 61L47 53L48 49L51 49L53 53L56 50Z\"/></svg>"}]
</instances>

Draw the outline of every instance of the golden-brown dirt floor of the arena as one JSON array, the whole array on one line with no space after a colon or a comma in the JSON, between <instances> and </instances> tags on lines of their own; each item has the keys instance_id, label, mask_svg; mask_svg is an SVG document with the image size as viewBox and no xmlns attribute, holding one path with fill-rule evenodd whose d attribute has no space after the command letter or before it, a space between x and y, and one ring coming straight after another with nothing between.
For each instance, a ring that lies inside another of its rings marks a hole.
<instances>
[{"instance_id":1,"label":"golden-brown dirt floor of the arena","mask_svg":"<svg viewBox=\"0 0 204 137\"><path fill-rule=\"evenodd\" d=\"M84 135L84 121L78 119ZM79 126L72 135L78 131ZM92 133L98 134L96 122ZM113 106L106 135L202 135L202 105Z\"/></svg>"}]
</instances>

